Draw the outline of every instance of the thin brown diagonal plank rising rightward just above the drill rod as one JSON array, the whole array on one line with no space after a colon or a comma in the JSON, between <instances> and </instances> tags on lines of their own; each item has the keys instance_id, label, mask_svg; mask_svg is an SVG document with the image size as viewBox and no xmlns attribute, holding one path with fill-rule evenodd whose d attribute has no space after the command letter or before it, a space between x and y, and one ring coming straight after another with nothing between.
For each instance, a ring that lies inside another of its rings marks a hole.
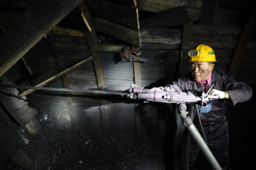
<instances>
[{"instance_id":1,"label":"thin brown diagonal plank rising rightward just above the drill rod","mask_svg":"<svg viewBox=\"0 0 256 170\"><path fill-rule=\"evenodd\" d=\"M74 70L74 69L78 68L79 66L83 65L83 63L87 63L88 61L91 61L91 60L92 60L92 57L86 58L85 60L80 61L79 63L75 64L74 66L70 67L69 69L65 69L63 72L60 72L59 74L56 74L55 76L50 77L50 79L45 80L44 82L39 83L38 85L36 85L36 87L45 86L45 85L48 84L48 82L51 82L51 81L53 81L53 80L56 80L57 78L61 77L62 75L71 72L72 70ZM26 90L25 92L21 93L19 96L20 96L20 97L21 97L21 96L26 96L26 95L28 95L29 93L32 93L33 91L34 91L34 89Z\"/></svg>"}]
</instances>

